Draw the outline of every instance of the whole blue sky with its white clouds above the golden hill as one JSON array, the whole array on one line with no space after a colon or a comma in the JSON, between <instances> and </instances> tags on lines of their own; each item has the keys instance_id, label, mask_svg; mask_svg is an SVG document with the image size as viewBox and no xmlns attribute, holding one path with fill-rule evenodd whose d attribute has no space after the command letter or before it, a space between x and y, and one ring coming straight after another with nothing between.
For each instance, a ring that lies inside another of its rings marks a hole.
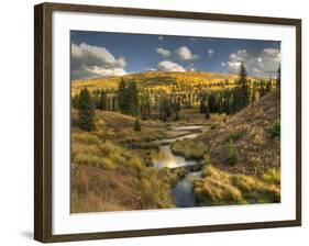
<instances>
[{"instance_id":1,"label":"whole blue sky with its white clouds above the golden hill","mask_svg":"<svg viewBox=\"0 0 309 246\"><path fill-rule=\"evenodd\" d=\"M279 41L71 31L71 78L121 76L148 70L276 76Z\"/></svg>"}]
</instances>

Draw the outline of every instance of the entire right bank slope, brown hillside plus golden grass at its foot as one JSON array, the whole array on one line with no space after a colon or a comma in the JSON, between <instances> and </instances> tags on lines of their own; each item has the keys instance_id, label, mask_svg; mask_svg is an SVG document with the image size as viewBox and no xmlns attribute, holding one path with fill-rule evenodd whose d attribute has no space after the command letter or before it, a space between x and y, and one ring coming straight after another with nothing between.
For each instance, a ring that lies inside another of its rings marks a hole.
<instances>
[{"instance_id":1,"label":"entire right bank slope, brown hillside plus golden grass at its foot","mask_svg":"<svg viewBox=\"0 0 309 246\"><path fill-rule=\"evenodd\" d=\"M201 178L194 181L199 203L280 201L279 96L272 91L197 139L208 146Z\"/></svg>"}]
</instances>

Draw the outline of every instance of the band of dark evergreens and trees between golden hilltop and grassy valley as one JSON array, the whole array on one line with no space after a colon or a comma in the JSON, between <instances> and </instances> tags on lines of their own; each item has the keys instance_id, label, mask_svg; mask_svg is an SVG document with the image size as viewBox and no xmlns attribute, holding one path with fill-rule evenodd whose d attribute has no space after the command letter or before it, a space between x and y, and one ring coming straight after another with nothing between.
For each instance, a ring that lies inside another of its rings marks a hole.
<instances>
[{"instance_id":1,"label":"band of dark evergreens and trees between golden hilltop and grassy valley","mask_svg":"<svg viewBox=\"0 0 309 246\"><path fill-rule=\"evenodd\" d=\"M229 83L225 81L224 83ZM95 110L117 111L133 115L143 120L158 118L162 121L177 121L184 108L192 108L199 104L199 112L210 119L211 113L234 114L271 92L274 86L280 85L280 68L276 82L274 79L250 81L243 64L240 66L239 78L235 86L220 90L203 89L200 91L180 92L177 88L169 93L164 91L152 94L141 88L137 89L135 81L121 79L117 90L95 90L90 92L87 88L80 90L73 100L73 107L79 112L79 126L91 131ZM86 120L88 119L88 120Z\"/></svg>"}]
</instances>

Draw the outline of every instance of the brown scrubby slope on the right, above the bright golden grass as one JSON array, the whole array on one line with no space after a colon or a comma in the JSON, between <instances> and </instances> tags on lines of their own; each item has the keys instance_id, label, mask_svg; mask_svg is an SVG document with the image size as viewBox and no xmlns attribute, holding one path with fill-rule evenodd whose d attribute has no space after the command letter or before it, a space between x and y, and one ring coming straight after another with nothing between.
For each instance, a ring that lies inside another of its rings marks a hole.
<instances>
[{"instance_id":1,"label":"brown scrubby slope on the right, above the bright golden grass","mask_svg":"<svg viewBox=\"0 0 309 246\"><path fill-rule=\"evenodd\" d=\"M274 132L280 122L279 97L280 91L274 90L200 137L208 145L214 166L246 175L261 175L279 167L280 139ZM229 165L231 148L238 153L233 165Z\"/></svg>"}]
</instances>

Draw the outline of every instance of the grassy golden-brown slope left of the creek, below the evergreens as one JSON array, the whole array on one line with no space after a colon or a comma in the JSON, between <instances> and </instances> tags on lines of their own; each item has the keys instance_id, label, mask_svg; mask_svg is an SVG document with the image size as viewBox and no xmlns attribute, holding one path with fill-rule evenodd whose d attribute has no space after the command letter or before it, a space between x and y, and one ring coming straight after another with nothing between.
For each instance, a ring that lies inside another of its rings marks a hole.
<instances>
[{"instance_id":1,"label":"grassy golden-brown slope left of the creek, below the evergreens","mask_svg":"<svg viewBox=\"0 0 309 246\"><path fill-rule=\"evenodd\" d=\"M96 111L96 130L86 132L71 114L71 212L174 208L169 195L181 172L154 169L151 141L173 137L161 121L141 121L109 111ZM181 170L180 170L181 171ZM107 199L108 198L108 199Z\"/></svg>"}]
</instances>

